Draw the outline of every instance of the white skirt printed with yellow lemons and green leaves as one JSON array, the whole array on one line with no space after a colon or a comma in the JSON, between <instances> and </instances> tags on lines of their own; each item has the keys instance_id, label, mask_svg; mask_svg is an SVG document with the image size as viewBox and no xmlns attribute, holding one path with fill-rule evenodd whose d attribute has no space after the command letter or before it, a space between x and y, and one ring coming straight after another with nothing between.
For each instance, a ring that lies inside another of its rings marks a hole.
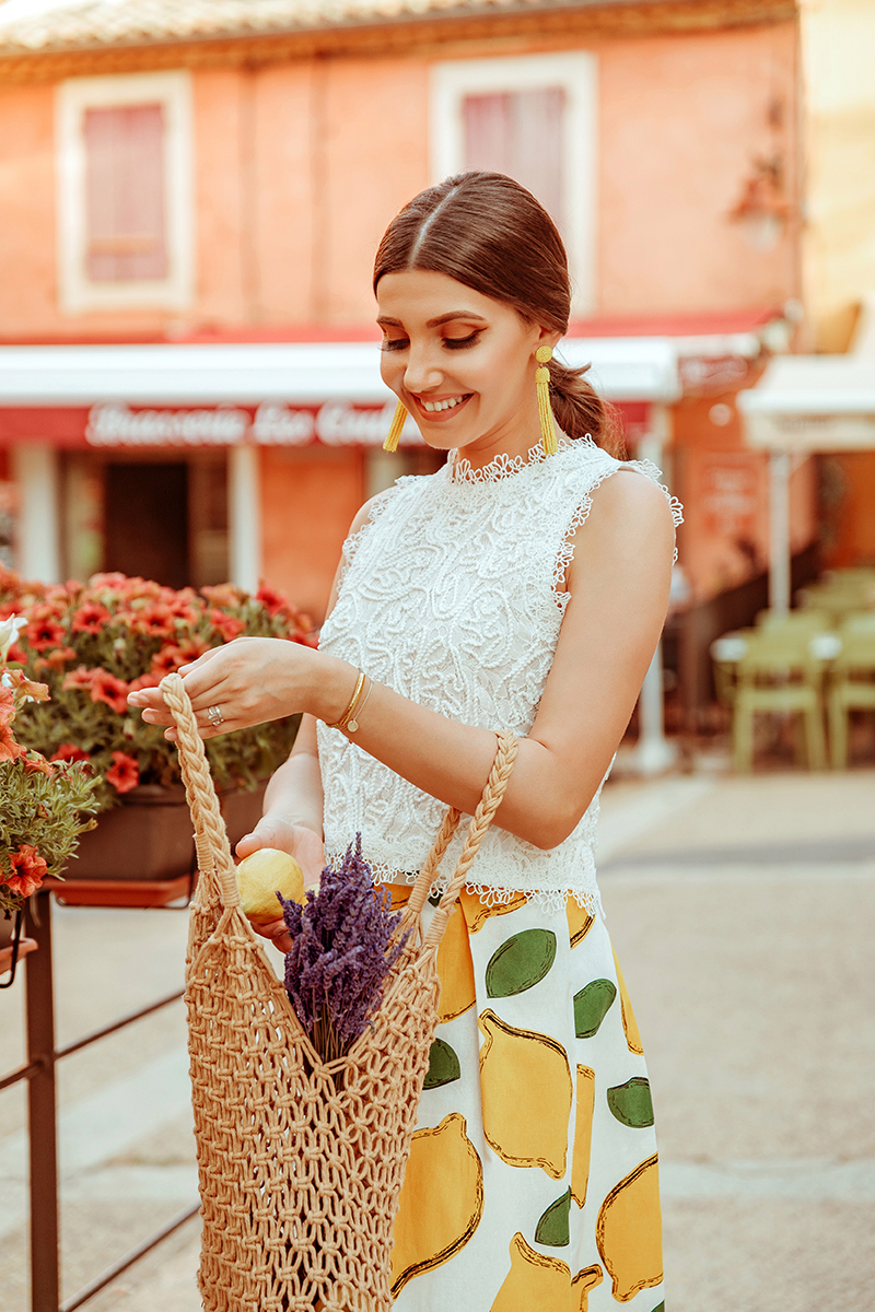
<instances>
[{"instance_id":1,"label":"white skirt printed with yellow lemons and green leaves","mask_svg":"<svg viewBox=\"0 0 875 1312\"><path fill-rule=\"evenodd\" d=\"M603 922L463 893L438 971L397 1312L664 1312L651 1090Z\"/></svg>"}]
</instances>

